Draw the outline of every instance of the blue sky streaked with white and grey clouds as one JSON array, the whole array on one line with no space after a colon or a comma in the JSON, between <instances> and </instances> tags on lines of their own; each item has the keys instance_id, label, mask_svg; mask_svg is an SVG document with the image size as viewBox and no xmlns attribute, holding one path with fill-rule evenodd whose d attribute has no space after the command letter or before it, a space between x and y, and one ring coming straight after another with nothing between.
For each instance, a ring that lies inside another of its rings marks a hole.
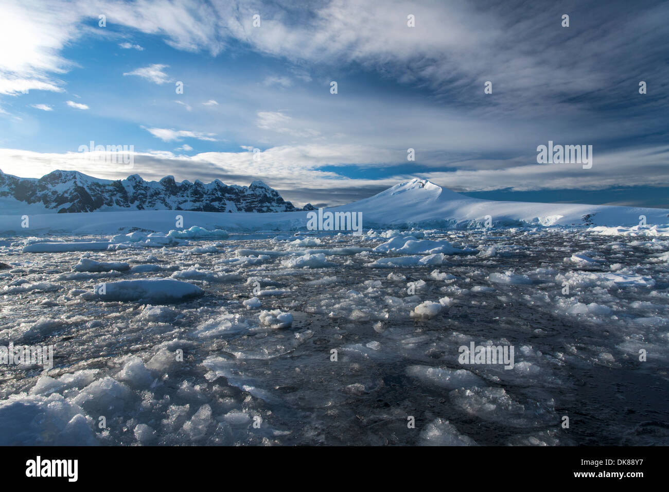
<instances>
[{"instance_id":1,"label":"blue sky streaked with white and grey clouds","mask_svg":"<svg viewBox=\"0 0 669 492\"><path fill-rule=\"evenodd\" d=\"M297 206L421 177L669 208L668 137L666 1L0 0L0 169L20 177L260 179ZM592 167L538 163L549 141Z\"/></svg>"}]
</instances>

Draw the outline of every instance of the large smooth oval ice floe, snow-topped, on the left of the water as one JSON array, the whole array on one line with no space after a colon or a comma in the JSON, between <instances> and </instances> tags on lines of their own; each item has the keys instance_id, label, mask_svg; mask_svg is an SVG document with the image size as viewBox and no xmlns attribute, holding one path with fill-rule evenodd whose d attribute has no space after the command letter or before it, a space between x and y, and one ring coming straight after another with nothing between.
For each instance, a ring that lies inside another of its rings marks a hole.
<instances>
[{"instance_id":1,"label":"large smooth oval ice floe, snow-topped, on the left of the water","mask_svg":"<svg viewBox=\"0 0 669 492\"><path fill-rule=\"evenodd\" d=\"M202 295L197 285L170 278L138 278L97 284L94 292L83 294L85 299L98 301L149 301L155 304L173 303Z\"/></svg>"}]
</instances>

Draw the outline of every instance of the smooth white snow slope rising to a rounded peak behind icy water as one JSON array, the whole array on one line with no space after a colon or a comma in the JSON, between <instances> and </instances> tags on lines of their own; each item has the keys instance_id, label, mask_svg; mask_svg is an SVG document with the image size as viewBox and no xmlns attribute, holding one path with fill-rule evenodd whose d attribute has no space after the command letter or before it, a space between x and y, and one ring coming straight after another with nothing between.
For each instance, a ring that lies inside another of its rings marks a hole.
<instances>
[{"instance_id":1,"label":"smooth white snow slope rising to a rounded peak behind icy water","mask_svg":"<svg viewBox=\"0 0 669 492\"><path fill-rule=\"evenodd\" d=\"M0 204L1 206L1 204ZM637 226L640 216L649 226L669 223L669 210L578 203L531 203L494 201L466 197L430 181L411 179L377 195L330 212L362 212L363 230L375 227L483 227L492 226ZM0 207L0 214L3 209ZM308 212L235 214L176 210L142 210L88 214L29 215L29 228L21 228L21 215L14 210L0 215L0 233L118 234L132 228L167 232L175 229L176 216L183 216L183 228L207 230L306 230ZM487 218L486 216L490 216ZM490 225L488 224L488 225ZM345 232L350 234L350 232Z\"/></svg>"}]
</instances>

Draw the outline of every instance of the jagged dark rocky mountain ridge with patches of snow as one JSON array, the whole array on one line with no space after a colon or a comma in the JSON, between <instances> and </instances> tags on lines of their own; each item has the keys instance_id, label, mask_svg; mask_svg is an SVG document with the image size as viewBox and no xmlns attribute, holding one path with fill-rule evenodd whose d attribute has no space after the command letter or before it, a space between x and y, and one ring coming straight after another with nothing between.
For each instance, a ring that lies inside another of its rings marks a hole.
<instances>
[{"instance_id":1,"label":"jagged dark rocky mountain ridge with patches of snow","mask_svg":"<svg viewBox=\"0 0 669 492\"><path fill-rule=\"evenodd\" d=\"M0 171L0 210L7 213L108 212L120 210L193 210L199 212L295 212L262 181L250 186L177 183L173 176L145 181L98 179L78 171L53 171L39 179L21 178ZM304 210L311 210L310 206Z\"/></svg>"}]
</instances>

